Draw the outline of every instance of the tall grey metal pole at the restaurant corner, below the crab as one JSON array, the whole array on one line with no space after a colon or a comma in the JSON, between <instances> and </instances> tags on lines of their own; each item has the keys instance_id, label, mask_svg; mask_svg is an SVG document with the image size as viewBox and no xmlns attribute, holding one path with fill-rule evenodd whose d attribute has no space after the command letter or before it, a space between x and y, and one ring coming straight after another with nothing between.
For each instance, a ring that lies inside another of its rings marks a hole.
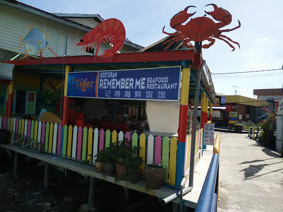
<instances>
[{"instance_id":1,"label":"tall grey metal pole at the restaurant corner, below the crab","mask_svg":"<svg viewBox=\"0 0 283 212\"><path fill-rule=\"evenodd\" d=\"M200 72L201 67L197 72L196 82L195 82L195 103L194 103L194 114L193 114L193 122L192 122L192 143L190 150L190 175L189 175L189 186L193 188L194 186L194 163L195 163L195 138L196 138L196 129L197 129L197 121L198 121L198 98L200 95Z\"/></svg>"}]
</instances>

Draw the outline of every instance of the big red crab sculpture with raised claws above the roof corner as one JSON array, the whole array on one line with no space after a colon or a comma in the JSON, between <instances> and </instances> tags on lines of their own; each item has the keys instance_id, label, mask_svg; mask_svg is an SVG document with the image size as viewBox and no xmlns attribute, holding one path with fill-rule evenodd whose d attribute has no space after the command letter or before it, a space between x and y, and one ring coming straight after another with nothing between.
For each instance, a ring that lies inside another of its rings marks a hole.
<instances>
[{"instance_id":1,"label":"big red crab sculpture with raised claws above the roof corner","mask_svg":"<svg viewBox=\"0 0 283 212\"><path fill-rule=\"evenodd\" d=\"M164 50L168 49L171 46L171 44L179 40L183 40L183 44L185 47L189 47L188 43L190 41L202 42L208 40L210 42L209 44L202 45L202 48L208 49L215 43L215 38L226 42L231 48L233 48L232 52L235 50L235 47L233 47L233 45L230 42L237 44L240 48L240 44L238 42L235 42L229 37L221 34L222 32L230 32L232 30L240 28L241 27L240 21L238 20L239 22L238 27L235 27L233 29L219 30L220 28L231 24L232 15L226 9L220 8L215 4L208 4L208 5L212 5L214 7L214 11L211 12L205 11L205 13L212 16L213 19L215 19L216 21L220 21L220 22L215 23L212 19L204 15L203 17L196 17L194 19L191 19L187 24L182 25L191 16L193 16L196 13L196 12L187 13L190 7L195 7L195 6L187 6L183 11L180 11L179 13L174 15L170 20L170 27L176 29L177 32L175 33L165 32L164 31L165 26L163 27L162 32L164 34L174 36L172 39L162 44L164 45L172 41L170 44L168 44L168 46Z\"/></svg>"}]
</instances>

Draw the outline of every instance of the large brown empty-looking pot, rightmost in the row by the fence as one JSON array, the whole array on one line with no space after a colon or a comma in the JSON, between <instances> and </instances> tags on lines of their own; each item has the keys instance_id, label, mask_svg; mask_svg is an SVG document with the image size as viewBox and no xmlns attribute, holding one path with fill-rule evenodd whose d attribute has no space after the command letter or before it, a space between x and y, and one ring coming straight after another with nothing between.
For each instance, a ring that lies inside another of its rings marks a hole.
<instances>
[{"instance_id":1,"label":"large brown empty-looking pot, rightmost in the row by the fence","mask_svg":"<svg viewBox=\"0 0 283 212\"><path fill-rule=\"evenodd\" d=\"M165 166L159 164L145 165L144 178L148 189L160 189L164 180Z\"/></svg>"}]
</instances>

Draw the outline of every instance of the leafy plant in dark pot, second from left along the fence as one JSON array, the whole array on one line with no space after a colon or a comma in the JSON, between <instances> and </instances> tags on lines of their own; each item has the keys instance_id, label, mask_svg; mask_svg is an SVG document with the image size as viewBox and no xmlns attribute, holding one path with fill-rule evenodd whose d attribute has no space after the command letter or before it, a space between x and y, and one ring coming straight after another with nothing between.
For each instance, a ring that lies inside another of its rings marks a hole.
<instances>
[{"instance_id":1,"label":"leafy plant in dark pot, second from left along the fence","mask_svg":"<svg viewBox=\"0 0 283 212\"><path fill-rule=\"evenodd\" d=\"M105 148L105 158L103 160L103 170L106 175L115 174L115 144L110 143L109 147Z\"/></svg>"}]
</instances>

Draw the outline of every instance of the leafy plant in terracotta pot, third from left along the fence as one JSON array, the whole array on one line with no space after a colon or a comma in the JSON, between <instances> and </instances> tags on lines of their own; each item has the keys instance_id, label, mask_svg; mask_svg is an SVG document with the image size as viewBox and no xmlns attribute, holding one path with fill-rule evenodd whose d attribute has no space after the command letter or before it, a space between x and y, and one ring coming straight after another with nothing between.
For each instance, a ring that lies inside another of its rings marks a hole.
<instances>
[{"instance_id":1,"label":"leafy plant in terracotta pot, third from left along the fence","mask_svg":"<svg viewBox=\"0 0 283 212\"><path fill-rule=\"evenodd\" d=\"M115 158L117 158L116 172L119 179L121 179L124 175L124 172L128 170L127 162L131 148L130 145L126 145L126 143L129 143L127 138L125 139L125 142L119 141L119 143L116 145L115 150Z\"/></svg>"}]
</instances>

